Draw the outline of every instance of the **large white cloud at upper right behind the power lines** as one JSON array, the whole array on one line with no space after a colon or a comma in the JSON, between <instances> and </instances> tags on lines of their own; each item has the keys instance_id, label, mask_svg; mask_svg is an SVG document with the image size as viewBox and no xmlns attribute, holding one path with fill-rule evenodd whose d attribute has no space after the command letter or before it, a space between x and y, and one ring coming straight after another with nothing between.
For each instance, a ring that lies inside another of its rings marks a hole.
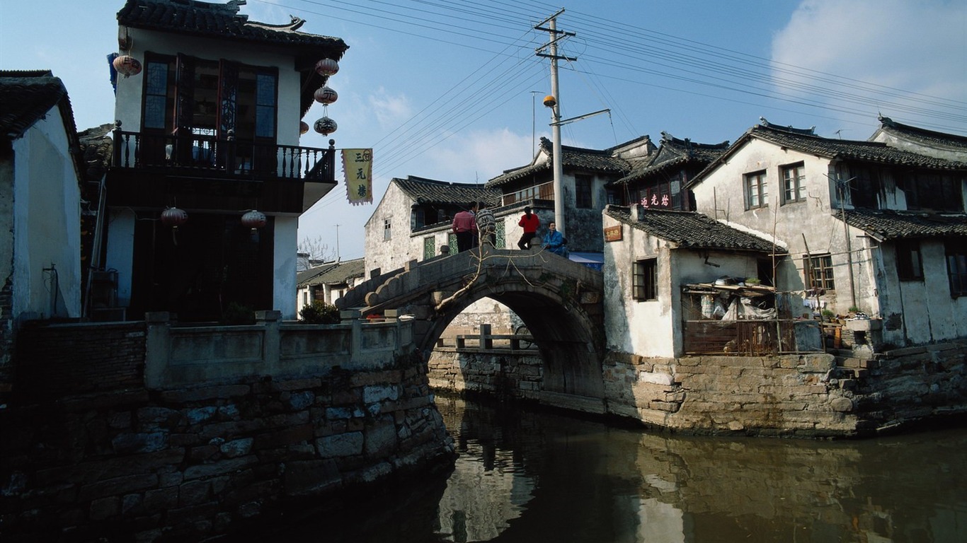
<instances>
[{"instance_id":1,"label":"large white cloud at upper right behind the power lines","mask_svg":"<svg viewBox=\"0 0 967 543\"><path fill-rule=\"evenodd\" d=\"M967 3L944 0L805 0L789 23L773 39L772 58L777 63L806 69L796 77L810 87L834 88L839 93L863 94L867 102L822 99L871 117L877 112L898 120L920 121L923 126L943 125L944 114L934 105L912 101L914 93L948 100L967 101ZM957 60L959 59L959 60ZM792 70L802 72L798 68ZM890 87L864 91L861 83L833 84L821 79L836 74L864 83ZM777 87L791 91L774 73ZM902 89L904 98L896 91ZM923 97L920 97L923 98ZM933 110L933 114L914 108ZM962 123L955 126L962 127Z\"/></svg>"}]
</instances>

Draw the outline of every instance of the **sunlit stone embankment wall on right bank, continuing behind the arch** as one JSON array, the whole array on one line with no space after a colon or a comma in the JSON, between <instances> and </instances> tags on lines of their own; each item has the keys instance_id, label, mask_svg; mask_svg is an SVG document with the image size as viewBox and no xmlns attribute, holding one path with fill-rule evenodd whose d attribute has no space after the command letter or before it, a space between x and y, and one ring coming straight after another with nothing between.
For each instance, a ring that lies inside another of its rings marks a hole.
<instances>
[{"instance_id":1,"label":"sunlit stone embankment wall on right bank, continuing behind the arch","mask_svg":"<svg viewBox=\"0 0 967 543\"><path fill-rule=\"evenodd\" d=\"M441 352L443 351L443 352ZM556 405L544 398L538 356L438 350L430 386ZM598 413L691 434L862 437L967 414L967 341L897 349L867 358L649 358L609 353Z\"/></svg>"}]
</instances>

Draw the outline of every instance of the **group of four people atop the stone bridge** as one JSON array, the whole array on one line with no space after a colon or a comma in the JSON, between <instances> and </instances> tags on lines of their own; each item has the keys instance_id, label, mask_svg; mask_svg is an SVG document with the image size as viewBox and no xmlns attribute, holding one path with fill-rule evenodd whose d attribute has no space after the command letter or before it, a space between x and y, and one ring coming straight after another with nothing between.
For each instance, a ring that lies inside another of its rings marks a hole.
<instances>
[{"instance_id":1,"label":"group of four people atop the stone bridge","mask_svg":"<svg viewBox=\"0 0 967 543\"><path fill-rule=\"evenodd\" d=\"M458 252L470 250L480 243L497 245L497 219L484 202L470 202L466 210L454 214L451 226L456 236ZM517 226L524 230L517 246L520 249L530 249L535 240L540 239L538 229L541 227L541 218L528 206L524 208L524 214L517 221ZM557 225L554 222L547 225L547 235L539 243L542 243L541 246L545 250L565 258L568 256L568 241L557 231Z\"/></svg>"}]
</instances>

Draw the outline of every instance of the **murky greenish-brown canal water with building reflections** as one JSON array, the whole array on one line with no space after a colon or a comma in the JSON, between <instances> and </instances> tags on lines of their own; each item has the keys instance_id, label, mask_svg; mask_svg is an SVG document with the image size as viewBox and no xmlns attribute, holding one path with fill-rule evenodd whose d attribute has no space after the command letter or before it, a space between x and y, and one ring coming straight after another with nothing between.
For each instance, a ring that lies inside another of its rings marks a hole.
<instances>
[{"instance_id":1,"label":"murky greenish-brown canal water with building reflections","mask_svg":"<svg viewBox=\"0 0 967 543\"><path fill-rule=\"evenodd\" d=\"M967 541L967 428L697 438L437 398L453 472L326 507L278 541ZM263 539L264 540L264 539Z\"/></svg>"}]
</instances>

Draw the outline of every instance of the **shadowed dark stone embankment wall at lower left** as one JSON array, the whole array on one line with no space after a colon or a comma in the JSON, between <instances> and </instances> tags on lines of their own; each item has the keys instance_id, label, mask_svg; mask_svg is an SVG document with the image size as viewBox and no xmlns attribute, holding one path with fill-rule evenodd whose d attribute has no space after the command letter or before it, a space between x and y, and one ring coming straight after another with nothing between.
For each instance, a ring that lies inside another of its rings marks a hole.
<instances>
[{"instance_id":1,"label":"shadowed dark stone embankment wall at lower left","mask_svg":"<svg viewBox=\"0 0 967 543\"><path fill-rule=\"evenodd\" d=\"M311 335L305 328L286 333ZM30 358L18 358L37 369L0 411L0 540L199 540L452 465L413 351L352 369L320 364L314 376L303 359L298 378L149 389L130 375L145 371L152 333L143 323L114 329L127 338L125 361L91 360L126 376L110 384L79 380L80 392L66 393L51 375L62 393L44 392L44 367L105 345L96 329L37 330Z\"/></svg>"}]
</instances>

